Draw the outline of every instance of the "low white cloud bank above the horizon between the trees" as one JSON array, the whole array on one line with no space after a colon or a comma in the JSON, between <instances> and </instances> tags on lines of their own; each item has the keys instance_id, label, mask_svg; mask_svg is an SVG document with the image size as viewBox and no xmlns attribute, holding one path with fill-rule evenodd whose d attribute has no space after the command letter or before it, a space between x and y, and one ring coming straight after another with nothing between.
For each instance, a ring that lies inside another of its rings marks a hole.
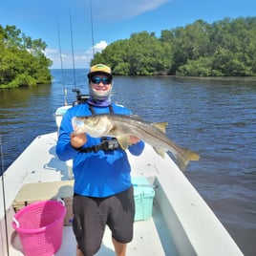
<instances>
[{"instance_id":1,"label":"low white cloud bank above the horizon between the trees","mask_svg":"<svg viewBox=\"0 0 256 256\"><path fill-rule=\"evenodd\" d=\"M94 46L95 53L101 53L108 46L106 41L100 41ZM45 55L53 61L53 69L61 68L61 60L63 69L73 69L73 53L68 51L62 51L61 58L60 53L56 49L47 48ZM93 58L93 47L83 52L74 52L75 68L88 68L90 61Z\"/></svg>"}]
</instances>

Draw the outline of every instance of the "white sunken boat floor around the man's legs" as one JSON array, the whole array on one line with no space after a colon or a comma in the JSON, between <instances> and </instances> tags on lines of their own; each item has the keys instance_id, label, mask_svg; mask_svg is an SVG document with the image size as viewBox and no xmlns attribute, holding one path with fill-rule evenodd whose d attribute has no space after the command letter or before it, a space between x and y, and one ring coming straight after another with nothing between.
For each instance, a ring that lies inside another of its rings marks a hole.
<instances>
[{"instance_id":1,"label":"white sunken boat floor around the man's legs","mask_svg":"<svg viewBox=\"0 0 256 256\"><path fill-rule=\"evenodd\" d=\"M64 227L62 247L56 253L58 256L75 255L75 238L69 227ZM127 256L133 255L177 255L175 248L170 243L170 236L160 217L160 210L154 209L154 217L147 221L135 223L133 241L128 245ZM111 241L111 232L107 228L103 244L96 253L97 256L113 256L114 246Z\"/></svg>"}]
</instances>

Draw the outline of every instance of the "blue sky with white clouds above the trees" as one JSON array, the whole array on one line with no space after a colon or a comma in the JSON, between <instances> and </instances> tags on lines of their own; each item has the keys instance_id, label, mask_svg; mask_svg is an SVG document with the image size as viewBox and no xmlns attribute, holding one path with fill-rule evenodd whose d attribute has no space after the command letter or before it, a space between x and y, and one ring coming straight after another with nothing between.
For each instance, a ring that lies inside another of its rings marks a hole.
<instances>
[{"instance_id":1,"label":"blue sky with white clouds above the trees","mask_svg":"<svg viewBox=\"0 0 256 256\"><path fill-rule=\"evenodd\" d=\"M211 24L224 17L256 15L255 0L91 0L91 3L95 51L102 51L118 39L129 38L133 32L156 32L159 36L163 30L184 27L198 19ZM45 41L46 55L53 60L52 68L60 68L59 50L63 68L73 68L72 48L75 68L89 66L93 47L90 0L3 0L0 25L4 28L15 25L32 39Z\"/></svg>"}]
</instances>

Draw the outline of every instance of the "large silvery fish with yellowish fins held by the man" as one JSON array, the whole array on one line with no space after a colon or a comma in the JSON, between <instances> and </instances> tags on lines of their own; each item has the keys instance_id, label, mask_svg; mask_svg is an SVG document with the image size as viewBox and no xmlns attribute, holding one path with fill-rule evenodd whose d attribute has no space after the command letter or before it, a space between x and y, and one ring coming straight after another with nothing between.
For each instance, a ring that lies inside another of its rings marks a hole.
<instances>
[{"instance_id":1,"label":"large silvery fish with yellowish fins held by the man","mask_svg":"<svg viewBox=\"0 0 256 256\"><path fill-rule=\"evenodd\" d=\"M136 115L98 114L73 117L72 125L75 134L116 138L123 150L130 146L130 136L137 137L150 144L162 158L170 151L182 171L190 160L200 159L197 153L177 145L165 135L167 122L149 122Z\"/></svg>"}]
</instances>

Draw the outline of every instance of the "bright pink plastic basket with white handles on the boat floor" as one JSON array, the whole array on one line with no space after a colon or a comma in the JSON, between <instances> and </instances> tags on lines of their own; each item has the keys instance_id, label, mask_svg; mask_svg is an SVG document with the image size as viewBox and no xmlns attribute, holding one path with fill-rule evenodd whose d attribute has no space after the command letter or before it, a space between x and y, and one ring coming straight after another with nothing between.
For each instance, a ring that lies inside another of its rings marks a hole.
<instances>
[{"instance_id":1,"label":"bright pink plastic basket with white handles on the boat floor","mask_svg":"<svg viewBox=\"0 0 256 256\"><path fill-rule=\"evenodd\" d=\"M64 202L42 201L32 203L13 217L26 256L52 256L62 242Z\"/></svg>"}]
</instances>

